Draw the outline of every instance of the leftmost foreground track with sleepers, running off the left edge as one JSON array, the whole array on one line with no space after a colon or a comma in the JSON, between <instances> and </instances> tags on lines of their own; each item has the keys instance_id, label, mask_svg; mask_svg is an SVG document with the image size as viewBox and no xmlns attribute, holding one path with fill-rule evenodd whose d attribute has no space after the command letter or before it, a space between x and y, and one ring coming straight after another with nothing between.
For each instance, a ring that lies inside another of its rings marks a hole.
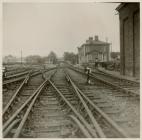
<instances>
[{"instance_id":1,"label":"leftmost foreground track with sleepers, running off the left edge","mask_svg":"<svg viewBox=\"0 0 142 140\"><path fill-rule=\"evenodd\" d=\"M28 75L25 78L25 80L22 82L20 87L17 89L17 91L14 93L10 101L6 104L6 106L3 109L3 129L5 129L5 127L7 127L7 125L9 125L9 123L11 123L11 121L13 121L15 117L18 118L19 120L20 115L17 114L17 112L21 108L23 108L23 106L25 106L26 103L28 103L28 101L32 99L33 97L32 92L36 93L36 88L44 81L44 75L46 74L49 75L50 73L51 71L47 73L46 72L34 73L33 75L31 75L31 77L29 77ZM16 120L16 122L18 121ZM15 120L14 120L14 125L15 125Z\"/></svg>"}]
</instances>

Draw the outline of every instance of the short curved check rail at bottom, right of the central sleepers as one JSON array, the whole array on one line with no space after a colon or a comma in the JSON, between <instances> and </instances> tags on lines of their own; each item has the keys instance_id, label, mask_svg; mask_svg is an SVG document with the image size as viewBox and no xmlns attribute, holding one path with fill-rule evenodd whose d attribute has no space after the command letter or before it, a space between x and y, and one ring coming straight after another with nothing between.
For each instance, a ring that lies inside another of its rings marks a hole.
<instances>
[{"instance_id":1,"label":"short curved check rail at bottom, right of the central sleepers","mask_svg":"<svg viewBox=\"0 0 142 140\"><path fill-rule=\"evenodd\" d=\"M81 130L82 134L86 137L86 138L91 138L92 136L89 134L89 132L86 130L86 128L84 127L84 125L80 122L80 120L73 116L73 115L69 115L68 116L71 120L73 120L77 126L79 127L79 129Z\"/></svg>"}]
</instances>

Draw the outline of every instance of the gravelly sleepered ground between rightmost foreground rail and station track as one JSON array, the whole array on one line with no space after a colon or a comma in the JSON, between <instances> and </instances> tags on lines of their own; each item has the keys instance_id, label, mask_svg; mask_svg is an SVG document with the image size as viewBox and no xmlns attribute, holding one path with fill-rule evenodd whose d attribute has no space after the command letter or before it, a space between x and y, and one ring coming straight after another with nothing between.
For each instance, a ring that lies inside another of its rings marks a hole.
<instances>
[{"instance_id":1,"label":"gravelly sleepered ground between rightmost foreground rail and station track","mask_svg":"<svg viewBox=\"0 0 142 140\"><path fill-rule=\"evenodd\" d=\"M140 103L137 97L124 95L97 80L93 85L86 85L85 75L71 69L68 72L83 96L86 95L97 108L123 128L129 137L140 136Z\"/></svg>"}]
</instances>

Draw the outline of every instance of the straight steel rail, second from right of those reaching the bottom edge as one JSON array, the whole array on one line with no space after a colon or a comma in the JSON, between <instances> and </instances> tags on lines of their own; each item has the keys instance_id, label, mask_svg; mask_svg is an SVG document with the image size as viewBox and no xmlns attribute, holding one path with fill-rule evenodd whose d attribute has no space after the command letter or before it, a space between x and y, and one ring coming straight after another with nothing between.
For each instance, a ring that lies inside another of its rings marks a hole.
<instances>
[{"instance_id":1,"label":"straight steel rail, second from right of those reaching the bottom edge","mask_svg":"<svg viewBox=\"0 0 142 140\"><path fill-rule=\"evenodd\" d=\"M82 98L82 96L79 94L78 89L76 87L76 85L72 82L71 78L68 76L68 74L66 73L66 76L68 78L68 81L71 83L73 89L75 90L79 100L81 101L83 107L85 108L90 120L92 121L92 124L97 132L97 135L101 138L106 138L106 135L104 134L102 128L100 127L100 125L98 124L98 122L96 121L96 119L94 118L92 112L90 111L90 109L88 108L87 104L85 103L84 99Z\"/></svg>"}]
</instances>

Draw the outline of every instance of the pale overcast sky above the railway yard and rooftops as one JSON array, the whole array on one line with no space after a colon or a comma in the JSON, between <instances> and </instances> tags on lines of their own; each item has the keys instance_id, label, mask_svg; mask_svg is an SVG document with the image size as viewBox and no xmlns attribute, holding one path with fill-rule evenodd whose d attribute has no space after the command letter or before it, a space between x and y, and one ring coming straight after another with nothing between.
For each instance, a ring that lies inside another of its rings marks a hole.
<instances>
[{"instance_id":1,"label":"pale overcast sky above the railway yard and rooftops","mask_svg":"<svg viewBox=\"0 0 142 140\"><path fill-rule=\"evenodd\" d=\"M90 37L120 50L119 3L3 3L3 56L77 53Z\"/></svg>"}]
</instances>

